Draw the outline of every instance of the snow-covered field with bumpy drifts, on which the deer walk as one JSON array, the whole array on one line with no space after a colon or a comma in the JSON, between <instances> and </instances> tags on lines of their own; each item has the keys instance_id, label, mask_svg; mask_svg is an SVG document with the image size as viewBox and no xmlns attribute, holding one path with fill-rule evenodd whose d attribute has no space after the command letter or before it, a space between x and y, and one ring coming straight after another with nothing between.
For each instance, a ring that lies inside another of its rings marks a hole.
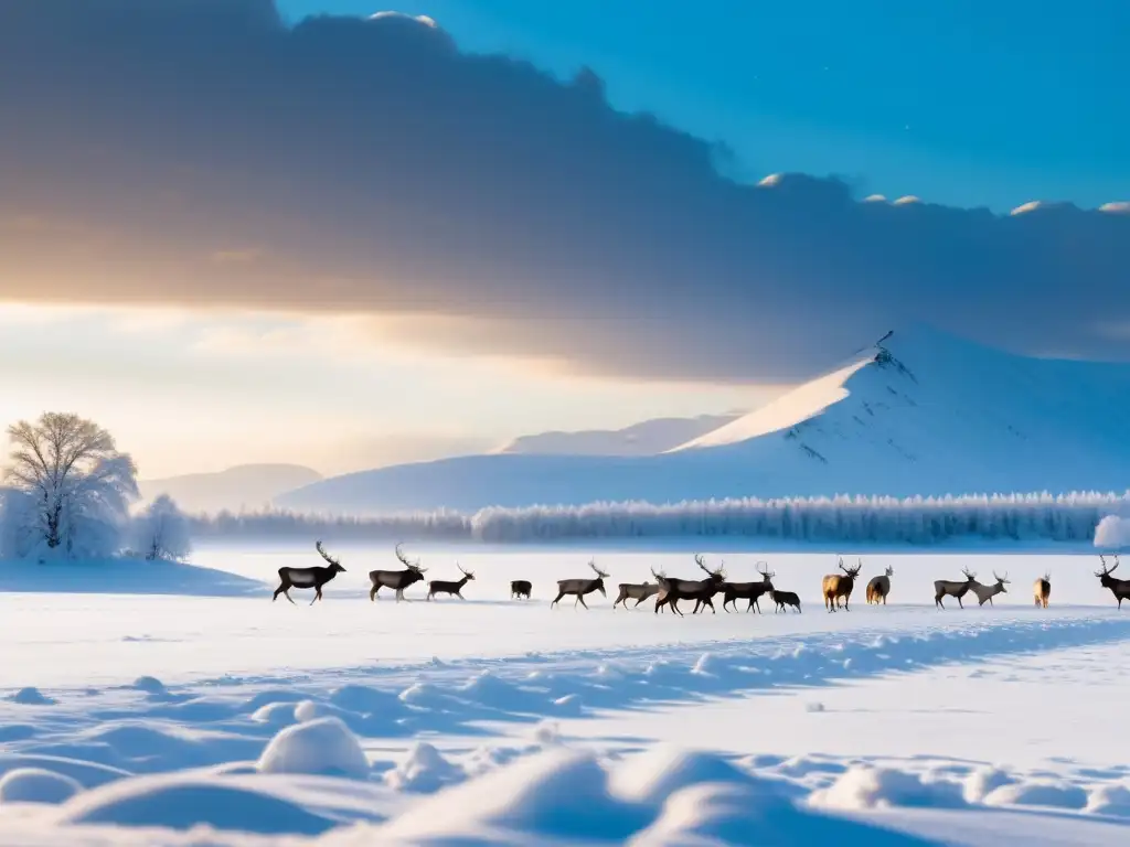
<instances>
[{"instance_id":1,"label":"snow-covered field with bumpy drifts, on which the deer walk","mask_svg":"<svg viewBox=\"0 0 1130 847\"><path fill-rule=\"evenodd\" d=\"M706 550L734 580L767 560L803 612L678 619L611 602L651 567L695 577L686 551L411 548L428 578L458 556L476 579L466 602L417 585L400 604L367 600L390 550L330 551L347 573L313 606L270 602L313 550L0 566L0 844L1130 838L1130 608L1097 557L867 556L852 611L828 614L834 557ZM609 596L550 611L590 555ZM890 605L867 606L888 565ZM932 582L963 567L1009 593L936 610Z\"/></svg>"}]
</instances>

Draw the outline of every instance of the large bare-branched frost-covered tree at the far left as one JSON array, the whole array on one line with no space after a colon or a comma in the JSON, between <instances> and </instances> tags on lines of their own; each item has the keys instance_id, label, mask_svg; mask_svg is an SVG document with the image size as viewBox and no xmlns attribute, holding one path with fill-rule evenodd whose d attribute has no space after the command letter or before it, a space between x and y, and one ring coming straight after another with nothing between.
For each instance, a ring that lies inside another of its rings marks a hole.
<instances>
[{"instance_id":1,"label":"large bare-branched frost-covered tree at the far left","mask_svg":"<svg viewBox=\"0 0 1130 847\"><path fill-rule=\"evenodd\" d=\"M116 553L138 487L133 460L113 436L77 414L46 412L8 427L8 437L5 481L23 497L12 495L14 514L6 508L5 523L16 525L5 534L28 536L24 555L41 545L72 557Z\"/></svg>"}]
</instances>

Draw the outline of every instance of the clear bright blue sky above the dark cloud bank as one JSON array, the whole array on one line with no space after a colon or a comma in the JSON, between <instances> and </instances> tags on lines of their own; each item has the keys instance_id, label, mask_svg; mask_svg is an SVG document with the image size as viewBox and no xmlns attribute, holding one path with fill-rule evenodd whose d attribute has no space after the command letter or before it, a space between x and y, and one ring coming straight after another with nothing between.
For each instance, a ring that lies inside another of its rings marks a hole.
<instances>
[{"instance_id":1,"label":"clear bright blue sky above the dark cloud bank","mask_svg":"<svg viewBox=\"0 0 1130 847\"><path fill-rule=\"evenodd\" d=\"M1130 197L1130 3L400 0L466 50L560 75L731 145L741 175L1008 210ZM371 2L284 0L290 18Z\"/></svg>"}]
</instances>

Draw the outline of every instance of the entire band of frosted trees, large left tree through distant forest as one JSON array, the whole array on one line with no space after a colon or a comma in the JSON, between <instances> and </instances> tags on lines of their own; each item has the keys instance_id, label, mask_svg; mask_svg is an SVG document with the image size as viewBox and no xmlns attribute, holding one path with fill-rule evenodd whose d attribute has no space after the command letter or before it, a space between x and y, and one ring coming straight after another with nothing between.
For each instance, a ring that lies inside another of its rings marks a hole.
<instances>
[{"instance_id":1,"label":"entire band of frosted trees, large left tree through distant forest","mask_svg":"<svg viewBox=\"0 0 1130 847\"><path fill-rule=\"evenodd\" d=\"M816 543L948 540L1090 542L1112 515L1130 514L1130 490L946 497L800 497L676 504L485 508L472 515L312 515L271 509L185 515L167 496L140 510L137 468L113 437L76 414L49 412L8 428L0 491L0 557L98 559L123 552L181 559L193 540L332 538L537 543L571 539L745 538ZM1110 532L1106 535L1111 535ZM1112 535L1113 536L1113 535Z\"/></svg>"}]
</instances>

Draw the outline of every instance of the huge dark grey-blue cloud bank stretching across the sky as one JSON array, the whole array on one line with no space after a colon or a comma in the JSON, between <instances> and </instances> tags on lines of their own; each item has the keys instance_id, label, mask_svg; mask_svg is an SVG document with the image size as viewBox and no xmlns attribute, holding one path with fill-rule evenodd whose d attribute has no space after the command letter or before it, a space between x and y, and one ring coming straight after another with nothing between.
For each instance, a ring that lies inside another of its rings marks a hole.
<instances>
[{"instance_id":1,"label":"huge dark grey-blue cloud bank stretching across the sky","mask_svg":"<svg viewBox=\"0 0 1130 847\"><path fill-rule=\"evenodd\" d=\"M20 80L0 86L7 299L372 315L405 341L664 379L790 382L919 320L1130 349L1096 330L1130 316L1118 206L737 184L724 149L612 111L592 71L464 54L431 20L8 0L0 78Z\"/></svg>"}]
</instances>

